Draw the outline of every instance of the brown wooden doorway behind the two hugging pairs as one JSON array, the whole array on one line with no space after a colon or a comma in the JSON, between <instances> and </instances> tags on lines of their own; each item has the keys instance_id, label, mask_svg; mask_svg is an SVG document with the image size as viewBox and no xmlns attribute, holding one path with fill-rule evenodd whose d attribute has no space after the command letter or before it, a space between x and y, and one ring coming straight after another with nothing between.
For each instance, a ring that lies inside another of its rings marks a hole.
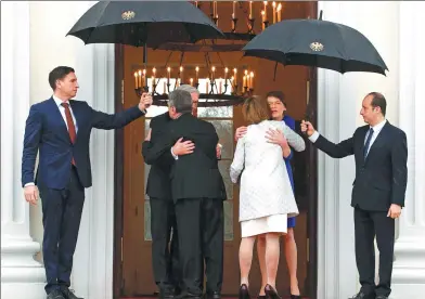
<instances>
[{"instance_id":1,"label":"brown wooden doorway behind the two hugging pairs","mask_svg":"<svg viewBox=\"0 0 425 299\"><path fill-rule=\"evenodd\" d=\"M283 3L283 2L282 2ZM317 2L284 2L283 20L315 17ZM229 2L231 8L231 2ZM230 24L230 22L229 22ZM184 61L198 63L198 53L186 53ZM169 52L149 50L147 67L164 64ZM116 47L116 112L137 105L133 70L141 67L142 49ZM246 66L255 70L256 94L265 95L270 90L282 90L286 95L288 114L296 120L308 117L315 122L317 77L315 70L301 66L278 66L274 63L246 57L241 53L222 55L222 60L234 66ZM169 61L178 66L179 57ZM141 144L149 130L152 117L166 110L153 106L146 117L138 119L116 132L115 142L115 225L114 225L114 299L142 298L157 291L152 270L152 240L150 231L150 198L145 195L149 166L141 155ZM234 130L244 126L241 107L198 108L198 117L210 121L223 145L220 170L226 182L228 200L224 202L224 273L222 294L237 296L240 284L239 245L241 231L239 223L239 187L230 182L229 166L234 151ZM299 128L299 126L298 126ZM317 157L307 142L307 151L294 157L294 179L296 199L300 210L295 227L298 247L298 281L302 295L315 298L317 294ZM282 243L282 248L284 244ZM260 287L260 271L253 258L250 272L253 295ZM278 290L287 295L289 280L286 261L282 251L278 273Z\"/></svg>"}]
</instances>

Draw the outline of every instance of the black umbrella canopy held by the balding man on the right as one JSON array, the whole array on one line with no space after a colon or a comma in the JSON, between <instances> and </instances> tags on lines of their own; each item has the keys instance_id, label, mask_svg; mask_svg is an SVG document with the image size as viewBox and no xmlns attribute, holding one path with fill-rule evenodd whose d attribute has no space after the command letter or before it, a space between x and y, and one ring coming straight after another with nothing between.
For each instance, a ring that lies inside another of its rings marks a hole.
<instances>
[{"instance_id":1,"label":"black umbrella canopy held by the balding man on the right","mask_svg":"<svg viewBox=\"0 0 425 299\"><path fill-rule=\"evenodd\" d=\"M283 65L306 65L347 72L385 75L388 70L366 37L348 26L322 20L288 20L276 23L248 42L246 56Z\"/></svg>"}]
</instances>

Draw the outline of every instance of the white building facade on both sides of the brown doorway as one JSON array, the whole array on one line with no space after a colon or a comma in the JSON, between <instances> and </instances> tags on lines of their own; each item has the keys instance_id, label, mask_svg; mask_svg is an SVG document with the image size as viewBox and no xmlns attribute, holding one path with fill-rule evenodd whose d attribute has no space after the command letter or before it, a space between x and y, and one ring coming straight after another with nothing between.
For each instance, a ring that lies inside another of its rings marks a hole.
<instances>
[{"instance_id":1,"label":"white building facade on both sides of the brown doorway","mask_svg":"<svg viewBox=\"0 0 425 299\"><path fill-rule=\"evenodd\" d=\"M21 187L25 119L31 104L48 99L49 72L70 65L81 84L78 99L114 112L114 47L65 37L95 2L1 2L1 297L41 299L46 294L40 263L41 207L29 207ZM386 77L319 70L318 128L333 141L349 138L358 126L361 100L379 91L388 101L388 120L408 135L409 184L398 221L392 275L394 299L425 294L425 2L319 1L323 18L363 32L387 63ZM73 288L88 299L111 299L113 283L114 132L91 139L93 186L86 205L74 260ZM318 298L353 295L355 262L351 183L353 158L335 160L319 154Z\"/></svg>"}]
</instances>

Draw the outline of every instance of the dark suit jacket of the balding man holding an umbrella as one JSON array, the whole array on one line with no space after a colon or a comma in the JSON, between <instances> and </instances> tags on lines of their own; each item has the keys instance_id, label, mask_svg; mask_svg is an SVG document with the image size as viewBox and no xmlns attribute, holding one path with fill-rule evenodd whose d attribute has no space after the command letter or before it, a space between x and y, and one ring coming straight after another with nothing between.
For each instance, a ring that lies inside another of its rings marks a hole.
<instances>
[{"instance_id":1,"label":"dark suit jacket of the balding man holding an umbrella","mask_svg":"<svg viewBox=\"0 0 425 299\"><path fill-rule=\"evenodd\" d=\"M364 160L363 146L369 128L370 126L358 128L352 138L338 144L321 135L314 145L334 158L355 155L352 207L371 211L388 211L391 204L403 207L408 182L405 133L387 121Z\"/></svg>"}]
</instances>

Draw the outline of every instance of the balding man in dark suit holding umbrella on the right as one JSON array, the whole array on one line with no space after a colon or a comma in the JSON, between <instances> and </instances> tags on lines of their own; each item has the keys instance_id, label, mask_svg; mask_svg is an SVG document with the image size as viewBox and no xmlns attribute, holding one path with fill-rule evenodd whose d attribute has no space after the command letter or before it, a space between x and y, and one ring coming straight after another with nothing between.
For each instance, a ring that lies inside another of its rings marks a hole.
<instances>
[{"instance_id":1,"label":"balding man in dark suit holding umbrella on the right","mask_svg":"<svg viewBox=\"0 0 425 299\"><path fill-rule=\"evenodd\" d=\"M385 119L383 94L369 93L361 116L366 126L338 144L320 135L309 121L302 121L314 146L333 158L355 155L356 179L351 206L355 208L356 261L361 289L351 299L387 299L391 292L395 220L404 206L408 181L405 133ZM379 283L375 285L374 239L379 249Z\"/></svg>"}]
</instances>

